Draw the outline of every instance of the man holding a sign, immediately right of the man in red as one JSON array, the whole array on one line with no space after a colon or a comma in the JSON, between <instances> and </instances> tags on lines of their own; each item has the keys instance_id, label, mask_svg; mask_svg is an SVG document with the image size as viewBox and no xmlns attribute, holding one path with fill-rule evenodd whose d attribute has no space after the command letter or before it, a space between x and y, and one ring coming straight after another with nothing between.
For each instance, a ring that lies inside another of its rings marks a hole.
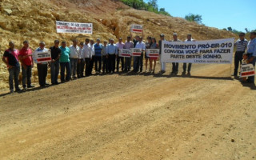
<instances>
[{"instance_id":1,"label":"man holding a sign, immediately right of the man in red","mask_svg":"<svg viewBox=\"0 0 256 160\"><path fill-rule=\"evenodd\" d=\"M48 49L45 48L46 43L45 42L39 42L39 47L35 52L48 52ZM34 60L37 62L36 60ZM40 86L47 86L49 85L46 83L46 76L48 72L48 62L37 62L38 66L38 81Z\"/></svg>"}]
</instances>

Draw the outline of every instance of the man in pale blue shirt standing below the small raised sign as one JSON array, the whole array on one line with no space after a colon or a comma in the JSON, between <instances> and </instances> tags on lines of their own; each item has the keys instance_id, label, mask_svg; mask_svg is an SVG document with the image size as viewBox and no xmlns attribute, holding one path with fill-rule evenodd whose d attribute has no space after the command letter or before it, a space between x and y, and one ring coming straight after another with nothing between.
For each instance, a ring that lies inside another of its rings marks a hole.
<instances>
[{"instance_id":1,"label":"man in pale blue shirt standing below the small raised sign","mask_svg":"<svg viewBox=\"0 0 256 160\"><path fill-rule=\"evenodd\" d=\"M142 42L142 37L139 38L139 41L137 42L135 48L142 49L142 54L141 56L134 56L134 72L138 72L138 69L140 72L143 70L143 52L146 48L145 43Z\"/></svg>"}]
</instances>

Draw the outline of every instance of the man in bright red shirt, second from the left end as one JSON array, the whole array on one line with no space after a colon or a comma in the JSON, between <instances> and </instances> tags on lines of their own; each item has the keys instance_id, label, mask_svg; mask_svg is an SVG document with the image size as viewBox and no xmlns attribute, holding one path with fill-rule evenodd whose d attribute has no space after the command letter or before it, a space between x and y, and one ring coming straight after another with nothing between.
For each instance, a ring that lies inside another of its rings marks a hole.
<instances>
[{"instance_id":1,"label":"man in bright red shirt, second from the left end","mask_svg":"<svg viewBox=\"0 0 256 160\"><path fill-rule=\"evenodd\" d=\"M26 90L26 84L28 88L34 87L31 85L31 75L34 63L32 60L32 50L29 45L28 41L24 41L22 50L19 51L18 55L20 62L22 62L22 86L24 90Z\"/></svg>"}]
</instances>

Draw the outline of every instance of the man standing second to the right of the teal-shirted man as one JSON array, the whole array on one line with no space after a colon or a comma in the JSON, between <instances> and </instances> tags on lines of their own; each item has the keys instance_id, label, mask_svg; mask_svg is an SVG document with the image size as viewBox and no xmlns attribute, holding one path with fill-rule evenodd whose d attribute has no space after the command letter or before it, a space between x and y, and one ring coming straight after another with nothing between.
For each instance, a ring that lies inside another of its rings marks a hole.
<instances>
[{"instance_id":1,"label":"man standing second to the right of the teal-shirted man","mask_svg":"<svg viewBox=\"0 0 256 160\"><path fill-rule=\"evenodd\" d=\"M78 50L78 70L77 70L78 78L85 77L83 74L85 69L85 54L83 50L84 50L83 42L80 42L80 46Z\"/></svg>"}]
</instances>

